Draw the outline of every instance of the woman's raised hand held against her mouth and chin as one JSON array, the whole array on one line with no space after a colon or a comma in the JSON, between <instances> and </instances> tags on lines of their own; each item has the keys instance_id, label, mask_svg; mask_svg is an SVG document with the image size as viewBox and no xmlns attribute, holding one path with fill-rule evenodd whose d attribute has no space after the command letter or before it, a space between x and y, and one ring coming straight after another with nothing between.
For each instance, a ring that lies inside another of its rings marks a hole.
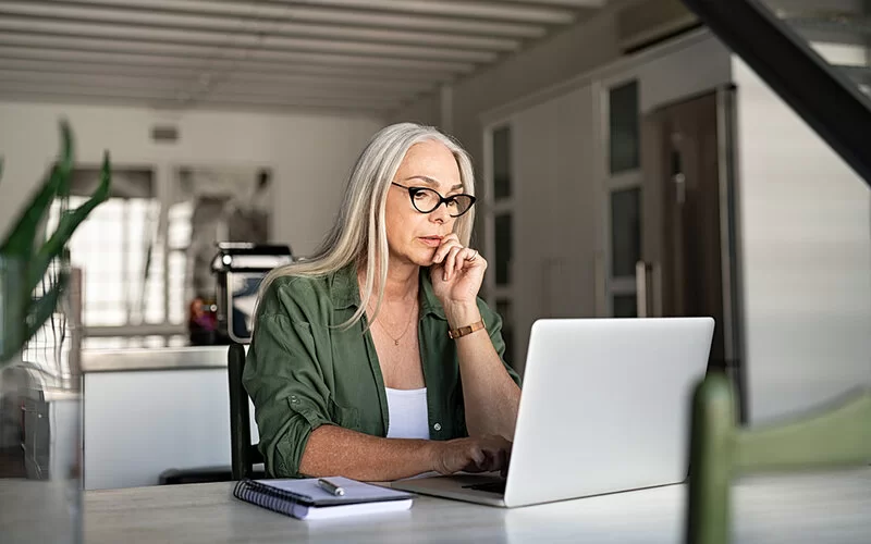
<instances>
[{"instance_id":1,"label":"woman's raised hand held against her mouth and chin","mask_svg":"<svg viewBox=\"0 0 871 544\"><path fill-rule=\"evenodd\" d=\"M476 304L487 270L487 261L478 251L463 247L457 235L452 233L442 238L432 264L432 288L442 306Z\"/></svg>"}]
</instances>

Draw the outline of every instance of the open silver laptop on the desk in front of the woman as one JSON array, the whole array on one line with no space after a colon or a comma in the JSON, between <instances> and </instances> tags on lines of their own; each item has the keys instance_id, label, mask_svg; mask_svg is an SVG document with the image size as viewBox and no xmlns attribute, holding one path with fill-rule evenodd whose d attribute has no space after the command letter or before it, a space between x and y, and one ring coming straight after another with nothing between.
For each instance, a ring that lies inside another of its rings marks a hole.
<instances>
[{"instance_id":1,"label":"open silver laptop on the desk in front of the woman","mask_svg":"<svg viewBox=\"0 0 871 544\"><path fill-rule=\"evenodd\" d=\"M507 478L393 487L515 507L683 482L713 331L710 318L536 321Z\"/></svg>"}]
</instances>

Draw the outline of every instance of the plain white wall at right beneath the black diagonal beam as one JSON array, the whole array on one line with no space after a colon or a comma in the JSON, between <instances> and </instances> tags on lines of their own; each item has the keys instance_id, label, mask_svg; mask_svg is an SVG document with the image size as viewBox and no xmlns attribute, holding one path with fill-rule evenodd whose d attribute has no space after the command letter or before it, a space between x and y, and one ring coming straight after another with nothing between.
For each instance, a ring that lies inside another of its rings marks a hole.
<instances>
[{"instance_id":1,"label":"plain white wall at right beneath the black diagonal beam","mask_svg":"<svg viewBox=\"0 0 871 544\"><path fill-rule=\"evenodd\" d=\"M871 384L871 190L743 61L733 66L757 423Z\"/></svg>"}]
</instances>

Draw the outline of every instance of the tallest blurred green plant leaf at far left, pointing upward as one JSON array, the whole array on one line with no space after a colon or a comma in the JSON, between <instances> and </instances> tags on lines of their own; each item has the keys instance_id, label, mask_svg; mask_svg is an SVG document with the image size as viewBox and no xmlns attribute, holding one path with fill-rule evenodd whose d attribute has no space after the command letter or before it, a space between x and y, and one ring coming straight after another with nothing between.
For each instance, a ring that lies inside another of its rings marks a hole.
<instances>
[{"instance_id":1,"label":"tallest blurred green plant leaf at far left, pointing upward","mask_svg":"<svg viewBox=\"0 0 871 544\"><path fill-rule=\"evenodd\" d=\"M19 220L12 223L12 230L0 245L0 254L27 257L35 246L36 232L45 220L58 191L69 193L70 174L73 171L73 135L66 122L61 123L61 158L51 168L48 180L42 182L41 189L30 200Z\"/></svg>"}]
</instances>

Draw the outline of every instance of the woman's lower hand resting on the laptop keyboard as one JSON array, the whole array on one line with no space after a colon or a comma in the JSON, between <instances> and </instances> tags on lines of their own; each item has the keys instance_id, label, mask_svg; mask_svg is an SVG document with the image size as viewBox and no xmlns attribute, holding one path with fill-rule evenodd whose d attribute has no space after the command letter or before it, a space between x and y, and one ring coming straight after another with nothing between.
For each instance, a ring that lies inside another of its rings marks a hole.
<instances>
[{"instance_id":1,"label":"woman's lower hand resting on the laptop keyboard","mask_svg":"<svg viewBox=\"0 0 871 544\"><path fill-rule=\"evenodd\" d=\"M440 474L466 472L508 472L511 442L499 435L483 435L433 442L432 470Z\"/></svg>"}]
</instances>

